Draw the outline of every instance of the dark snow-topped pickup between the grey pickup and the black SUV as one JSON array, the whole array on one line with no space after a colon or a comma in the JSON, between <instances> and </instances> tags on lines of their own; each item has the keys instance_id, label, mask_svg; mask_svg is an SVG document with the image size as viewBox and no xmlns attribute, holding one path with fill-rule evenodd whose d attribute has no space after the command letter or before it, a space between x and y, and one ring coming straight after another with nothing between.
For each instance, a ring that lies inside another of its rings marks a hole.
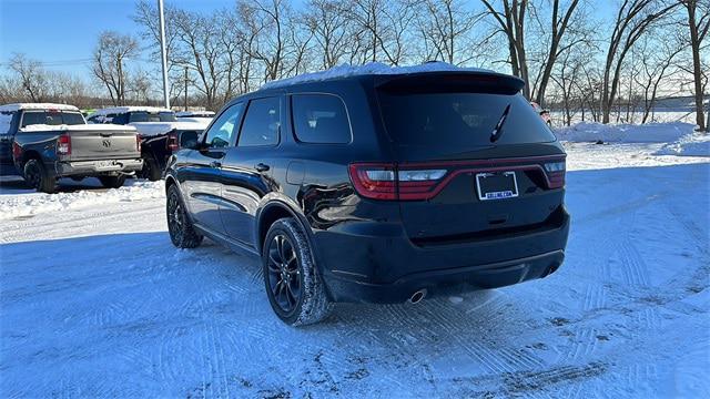
<instances>
[{"instance_id":1,"label":"dark snow-topped pickup between the grey pickup and the black SUV","mask_svg":"<svg viewBox=\"0 0 710 399\"><path fill-rule=\"evenodd\" d=\"M194 143L210 124L210 119L178 121L171 110L151 106L119 106L98 110L89 116L92 123L134 126L141 137L143 170L140 176L150 181L162 177L165 163L183 143Z\"/></svg>"}]
</instances>

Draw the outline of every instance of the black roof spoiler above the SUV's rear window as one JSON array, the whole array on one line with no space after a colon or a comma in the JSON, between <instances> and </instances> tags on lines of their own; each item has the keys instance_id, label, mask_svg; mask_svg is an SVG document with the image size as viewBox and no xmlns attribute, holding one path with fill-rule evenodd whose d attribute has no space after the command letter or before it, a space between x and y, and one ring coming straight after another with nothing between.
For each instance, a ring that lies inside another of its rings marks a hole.
<instances>
[{"instance_id":1,"label":"black roof spoiler above the SUV's rear window","mask_svg":"<svg viewBox=\"0 0 710 399\"><path fill-rule=\"evenodd\" d=\"M525 82L495 72L423 72L375 78L375 89L392 93L491 93L516 94Z\"/></svg>"}]
</instances>

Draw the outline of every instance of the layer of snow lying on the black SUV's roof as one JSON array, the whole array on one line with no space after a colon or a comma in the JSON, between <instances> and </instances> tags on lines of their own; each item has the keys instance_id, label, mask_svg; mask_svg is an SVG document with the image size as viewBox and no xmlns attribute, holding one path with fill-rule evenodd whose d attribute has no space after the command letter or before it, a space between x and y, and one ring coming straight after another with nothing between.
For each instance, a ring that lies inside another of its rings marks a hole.
<instances>
[{"instance_id":1,"label":"layer of snow lying on the black SUV's roof","mask_svg":"<svg viewBox=\"0 0 710 399\"><path fill-rule=\"evenodd\" d=\"M318 82L335 78L347 78L367 74L407 74L420 72L446 72L446 71L477 71L493 72L478 68L459 68L447 62L427 62L420 65L389 66L381 62L369 62L364 65L342 64L321 72L304 73L294 78L281 79L265 83L262 89L274 89L296 83Z\"/></svg>"}]
</instances>

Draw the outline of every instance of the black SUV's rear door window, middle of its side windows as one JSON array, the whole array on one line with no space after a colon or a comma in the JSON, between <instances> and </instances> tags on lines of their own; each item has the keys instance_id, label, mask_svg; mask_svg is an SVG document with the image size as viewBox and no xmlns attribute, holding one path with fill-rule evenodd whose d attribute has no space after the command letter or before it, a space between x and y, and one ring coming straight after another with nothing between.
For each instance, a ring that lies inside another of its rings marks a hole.
<instances>
[{"instance_id":1,"label":"black SUV's rear door window, middle of its side windows","mask_svg":"<svg viewBox=\"0 0 710 399\"><path fill-rule=\"evenodd\" d=\"M248 103L239 146L276 145L281 129L281 99L267 98Z\"/></svg>"}]
</instances>

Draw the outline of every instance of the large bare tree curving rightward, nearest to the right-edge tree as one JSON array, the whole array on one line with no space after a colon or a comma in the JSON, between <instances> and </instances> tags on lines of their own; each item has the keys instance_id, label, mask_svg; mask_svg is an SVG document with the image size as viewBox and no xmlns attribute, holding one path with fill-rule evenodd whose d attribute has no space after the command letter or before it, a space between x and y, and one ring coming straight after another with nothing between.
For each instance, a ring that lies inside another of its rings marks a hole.
<instances>
[{"instance_id":1,"label":"large bare tree curving rightward, nearest to the right-edge tree","mask_svg":"<svg viewBox=\"0 0 710 399\"><path fill-rule=\"evenodd\" d=\"M616 13L604 68L601 93L604 123L609 123L611 106L619 90L623 61L629 51L653 23L677 6L677 2L668 4L658 0L623 0L620 4Z\"/></svg>"}]
</instances>

